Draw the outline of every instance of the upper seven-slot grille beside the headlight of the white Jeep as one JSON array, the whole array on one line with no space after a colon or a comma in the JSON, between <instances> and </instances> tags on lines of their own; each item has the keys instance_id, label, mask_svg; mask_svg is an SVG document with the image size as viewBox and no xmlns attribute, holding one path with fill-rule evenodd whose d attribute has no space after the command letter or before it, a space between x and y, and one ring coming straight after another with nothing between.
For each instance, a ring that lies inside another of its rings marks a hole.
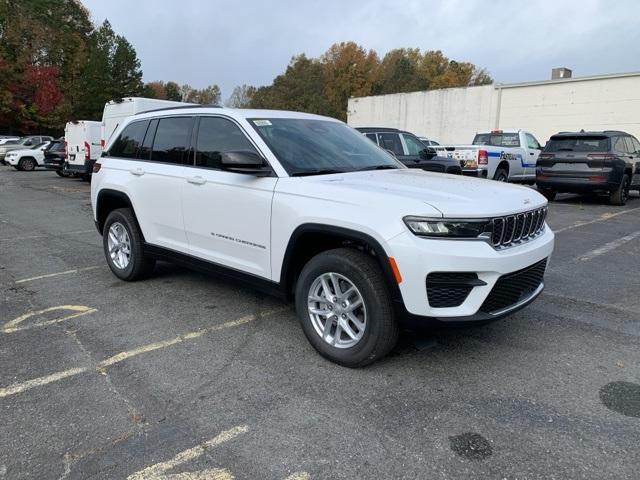
<instances>
[{"instance_id":1,"label":"upper seven-slot grille beside the headlight of the white Jeep","mask_svg":"<svg viewBox=\"0 0 640 480\"><path fill-rule=\"evenodd\" d=\"M491 244L495 248L504 248L526 242L544 230L546 218L547 207L494 218L491 221L493 224Z\"/></svg>"}]
</instances>

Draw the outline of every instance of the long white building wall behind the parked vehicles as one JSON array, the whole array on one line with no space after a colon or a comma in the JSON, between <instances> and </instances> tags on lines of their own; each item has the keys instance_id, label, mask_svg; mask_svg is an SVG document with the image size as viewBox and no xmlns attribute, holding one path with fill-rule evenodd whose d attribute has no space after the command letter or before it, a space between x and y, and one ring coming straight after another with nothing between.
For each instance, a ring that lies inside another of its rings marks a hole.
<instances>
[{"instance_id":1,"label":"long white building wall behind the parked vehicles","mask_svg":"<svg viewBox=\"0 0 640 480\"><path fill-rule=\"evenodd\" d=\"M624 130L640 138L640 73L352 98L348 123L396 127L441 143L524 128L544 144L559 131Z\"/></svg>"}]
</instances>

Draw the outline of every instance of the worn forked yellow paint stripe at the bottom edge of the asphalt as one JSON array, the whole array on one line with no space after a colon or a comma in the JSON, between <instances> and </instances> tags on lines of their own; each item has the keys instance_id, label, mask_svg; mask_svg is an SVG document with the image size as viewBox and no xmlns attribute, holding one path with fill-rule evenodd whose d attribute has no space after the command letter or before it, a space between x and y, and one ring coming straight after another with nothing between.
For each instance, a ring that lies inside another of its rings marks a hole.
<instances>
[{"instance_id":1,"label":"worn forked yellow paint stripe at the bottom edge of the asphalt","mask_svg":"<svg viewBox=\"0 0 640 480\"><path fill-rule=\"evenodd\" d=\"M247 433L249 431L249 427L246 425L241 425L237 427L233 427L229 430L225 430L224 432L216 435L210 440L201 443L195 447L189 448L183 452L178 453L171 460L166 462L156 463L155 465L151 465L139 472L136 472L127 477L127 480L160 480L163 478L180 478L182 480L196 480L196 479L211 479L211 480L227 480L232 479L233 475L226 469L209 469L206 471L196 471L196 472L185 472L176 475L165 475L165 472L175 468L183 463L186 463L190 460L194 460L200 457L206 450L216 447L222 443L228 442L229 440L233 440L238 435ZM178 477L179 475L179 477Z\"/></svg>"}]
</instances>

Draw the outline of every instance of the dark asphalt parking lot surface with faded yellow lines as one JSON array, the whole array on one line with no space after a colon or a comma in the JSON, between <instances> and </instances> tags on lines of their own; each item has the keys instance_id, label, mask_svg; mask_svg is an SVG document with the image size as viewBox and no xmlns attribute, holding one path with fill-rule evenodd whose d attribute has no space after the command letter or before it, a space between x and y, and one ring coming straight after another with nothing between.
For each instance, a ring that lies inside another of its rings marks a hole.
<instances>
[{"instance_id":1,"label":"dark asphalt parking lot surface with faded yellow lines","mask_svg":"<svg viewBox=\"0 0 640 480\"><path fill-rule=\"evenodd\" d=\"M0 167L0 479L636 479L640 198L560 196L546 290L350 370L292 305L109 271L89 184Z\"/></svg>"}]
</instances>

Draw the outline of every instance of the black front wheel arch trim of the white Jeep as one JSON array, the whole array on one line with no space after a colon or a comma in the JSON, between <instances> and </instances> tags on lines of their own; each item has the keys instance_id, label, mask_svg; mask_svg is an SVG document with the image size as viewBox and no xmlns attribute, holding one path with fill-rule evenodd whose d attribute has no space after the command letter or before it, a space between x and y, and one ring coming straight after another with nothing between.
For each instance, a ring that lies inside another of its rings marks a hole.
<instances>
[{"instance_id":1,"label":"black front wheel arch trim of the white Jeep","mask_svg":"<svg viewBox=\"0 0 640 480\"><path fill-rule=\"evenodd\" d=\"M378 240L350 228L317 223L299 225L289 238L280 269L280 283L285 292L292 294L302 268L312 257L344 246L361 249L373 256L380 265L393 300L402 299L389 256Z\"/></svg>"}]
</instances>

